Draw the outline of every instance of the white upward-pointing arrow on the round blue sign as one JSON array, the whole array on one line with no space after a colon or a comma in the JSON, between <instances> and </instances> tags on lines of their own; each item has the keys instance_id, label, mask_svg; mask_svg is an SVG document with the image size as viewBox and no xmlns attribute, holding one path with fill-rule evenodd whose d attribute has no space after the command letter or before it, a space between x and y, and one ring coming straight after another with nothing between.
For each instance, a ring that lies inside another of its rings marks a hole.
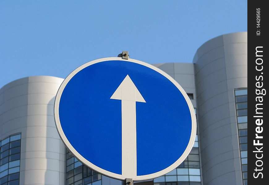
<instances>
[{"instance_id":1,"label":"white upward-pointing arrow on the round blue sign","mask_svg":"<svg viewBox=\"0 0 269 185\"><path fill-rule=\"evenodd\" d=\"M110 99L122 101L122 177L136 177L136 101L146 102L127 75Z\"/></svg>"}]
</instances>

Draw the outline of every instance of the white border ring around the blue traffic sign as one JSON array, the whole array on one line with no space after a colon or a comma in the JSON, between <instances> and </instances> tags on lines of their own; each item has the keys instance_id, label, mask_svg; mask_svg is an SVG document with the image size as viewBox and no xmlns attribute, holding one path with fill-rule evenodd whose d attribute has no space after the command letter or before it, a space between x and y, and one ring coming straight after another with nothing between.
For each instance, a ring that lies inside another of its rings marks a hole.
<instances>
[{"instance_id":1,"label":"white border ring around the blue traffic sign","mask_svg":"<svg viewBox=\"0 0 269 185\"><path fill-rule=\"evenodd\" d=\"M79 71L81 71L82 69L92 65L92 64L96 64L99 62L104 62L104 61L109 61L109 60L122 60L122 61L127 61L127 62L133 62L136 64L141 64L143 66L146 66L148 68L151 68L153 70L155 70L156 72L159 72L160 74L162 74L163 76L165 76L166 78L168 78L178 89L179 91L183 94L189 109L190 109L190 115L191 115L191 124L192 124L192 129L191 129L191 134L190 134L190 141L188 143L188 146L186 147L186 150L183 152L183 154L181 155L181 157L179 159L177 159L176 162L174 162L172 165L170 165L169 167L165 168L164 170L158 171L156 173L153 174L148 174L148 175L140 175L140 176L136 176L136 177L122 177L122 175L120 174L116 174L116 173L112 173L110 171L106 171L100 167L97 167L96 165L92 164L91 162L89 162L87 159L83 158L82 155L80 155L75 148L70 144L70 142L68 141L68 139L66 138L63 130L62 130L62 126L60 123L60 118L59 118L59 103L60 103L60 99L62 96L62 92L64 90L64 88L66 87L66 84L69 82L69 80ZM55 102L54 102L54 120L55 120L55 125L58 131L58 134L60 135L62 141L64 142L64 144L66 145L67 149L79 160L81 161L84 165L90 167L92 170L111 177L113 179L118 179L118 180L125 180L125 178L132 178L133 181L142 181L142 180L149 180L149 179L154 179L157 177L160 177L164 174L167 174L168 172L172 171L173 169L175 169L176 167L178 167L181 162L183 162L185 160L185 158L188 156L188 154L190 153L190 150L192 149L193 145L194 145L194 141L195 141L195 136L196 136L196 117L195 117L195 113L194 113L194 108L193 105L190 101L190 98L188 97L187 93L184 91L184 89L177 83L176 80L174 80L171 76L169 76L168 74L166 74L164 71L160 70L159 68L151 65L151 64L147 64L145 62L139 61L139 60L135 60L135 59L122 59L121 57L107 57L107 58L101 58L101 59L96 59L96 60L92 60L86 64L83 64L81 66L79 66L78 68L76 68L73 72L71 72L66 79L62 82L60 88L58 89L58 92L56 94L55 97Z\"/></svg>"}]
</instances>

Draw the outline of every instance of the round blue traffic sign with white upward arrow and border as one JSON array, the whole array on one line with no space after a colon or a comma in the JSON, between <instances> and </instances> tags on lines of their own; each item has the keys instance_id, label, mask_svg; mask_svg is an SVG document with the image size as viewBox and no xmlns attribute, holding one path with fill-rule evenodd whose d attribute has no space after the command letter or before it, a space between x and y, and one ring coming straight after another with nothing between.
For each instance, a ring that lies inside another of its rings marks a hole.
<instances>
[{"instance_id":1,"label":"round blue traffic sign with white upward arrow and border","mask_svg":"<svg viewBox=\"0 0 269 185\"><path fill-rule=\"evenodd\" d=\"M196 135L183 88L159 68L119 57L70 73L55 98L54 117L76 158L120 180L168 173L187 157Z\"/></svg>"}]
</instances>

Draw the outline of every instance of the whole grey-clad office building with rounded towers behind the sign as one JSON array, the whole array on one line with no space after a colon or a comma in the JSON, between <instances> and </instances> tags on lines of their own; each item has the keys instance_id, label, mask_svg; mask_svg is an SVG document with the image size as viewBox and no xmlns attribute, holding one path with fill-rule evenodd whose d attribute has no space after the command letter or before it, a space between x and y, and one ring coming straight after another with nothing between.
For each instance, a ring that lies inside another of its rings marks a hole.
<instances>
[{"instance_id":1,"label":"whole grey-clad office building with rounded towers behind the sign","mask_svg":"<svg viewBox=\"0 0 269 185\"><path fill-rule=\"evenodd\" d=\"M187 92L198 130L183 163L135 184L247 185L247 32L207 41L193 63L154 65ZM59 138L53 104L62 81L32 76L0 89L0 185L121 185L82 165Z\"/></svg>"}]
</instances>

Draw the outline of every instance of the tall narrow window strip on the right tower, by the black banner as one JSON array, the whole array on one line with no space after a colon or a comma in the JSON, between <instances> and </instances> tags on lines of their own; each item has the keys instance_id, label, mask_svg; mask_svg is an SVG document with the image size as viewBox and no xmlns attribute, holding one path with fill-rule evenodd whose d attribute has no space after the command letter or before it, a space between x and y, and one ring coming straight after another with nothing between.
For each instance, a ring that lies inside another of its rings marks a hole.
<instances>
[{"instance_id":1,"label":"tall narrow window strip on the right tower, by the black banner","mask_svg":"<svg viewBox=\"0 0 269 185\"><path fill-rule=\"evenodd\" d=\"M235 104L237 115L237 128L240 146L242 178L244 185L247 185L247 88L235 89Z\"/></svg>"}]
</instances>

